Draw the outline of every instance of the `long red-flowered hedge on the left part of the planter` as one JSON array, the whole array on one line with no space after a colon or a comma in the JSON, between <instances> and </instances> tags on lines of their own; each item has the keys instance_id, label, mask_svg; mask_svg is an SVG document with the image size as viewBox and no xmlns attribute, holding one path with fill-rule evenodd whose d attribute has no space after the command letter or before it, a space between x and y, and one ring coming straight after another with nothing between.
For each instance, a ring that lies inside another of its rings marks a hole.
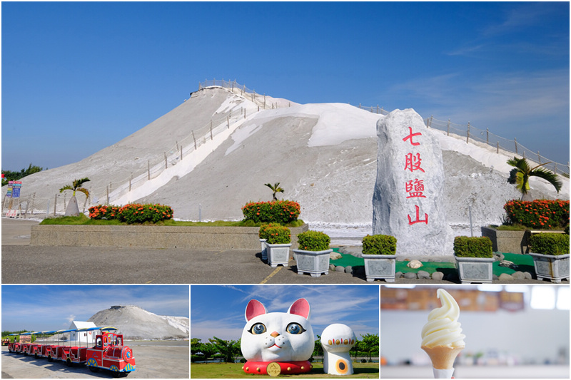
<instances>
[{"instance_id":1,"label":"long red-flowered hedge on the left part of the planter","mask_svg":"<svg viewBox=\"0 0 571 380\"><path fill-rule=\"evenodd\" d=\"M173 209L163 205L128 204L123 207L113 205L96 205L89 207L91 219L116 219L129 225L144 222L160 222L173 217Z\"/></svg>"}]
</instances>

